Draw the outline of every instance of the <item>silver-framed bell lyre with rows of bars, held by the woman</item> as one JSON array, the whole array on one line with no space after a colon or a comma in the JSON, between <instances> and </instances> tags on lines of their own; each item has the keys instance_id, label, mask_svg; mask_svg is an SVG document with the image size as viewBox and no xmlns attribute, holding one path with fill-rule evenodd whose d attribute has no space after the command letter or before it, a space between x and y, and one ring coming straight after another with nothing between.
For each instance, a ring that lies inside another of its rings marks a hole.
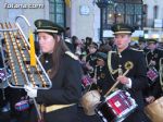
<instances>
[{"instance_id":1,"label":"silver-framed bell lyre with rows of bars, held by the woman","mask_svg":"<svg viewBox=\"0 0 163 122\"><path fill-rule=\"evenodd\" d=\"M23 15L17 16L15 19L15 24L13 25L7 22L4 24L0 23L0 32L2 32L4 36L9 63L12 72L12 80L8 81L8 84L13 88L24 88L25 85L28 85L37 89L50 89L52 87L52 83L37 56L35 56L37 62L36 65L32 66L29 63L30 45L17 22L18 19L23 19L30 28L29 22ZM35 98L33 100L36 106L39 120L41 120L42 118L38 110L37 102Z\"/></svg>"}]
</instances>

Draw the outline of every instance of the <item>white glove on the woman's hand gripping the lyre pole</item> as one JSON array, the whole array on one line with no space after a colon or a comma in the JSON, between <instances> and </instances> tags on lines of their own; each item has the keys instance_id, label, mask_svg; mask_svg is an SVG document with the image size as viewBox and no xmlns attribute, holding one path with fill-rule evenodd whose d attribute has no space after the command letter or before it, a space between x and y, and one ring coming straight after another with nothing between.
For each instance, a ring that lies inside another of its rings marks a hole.
<instances>
[{"instance_id":1,"label":"white glove on the woman's hand gripping the lyre pole","mask_svg":"<svg viewBox=\"0 0 163 122\"><path fill-rule=\"evenodd\" d=\"M25 86L24 86L24 89L27 91L27 95L28 95L30 98L37 97L37 89L36 89L36 88L25 85Z\"/></svg>"}]
</instances>

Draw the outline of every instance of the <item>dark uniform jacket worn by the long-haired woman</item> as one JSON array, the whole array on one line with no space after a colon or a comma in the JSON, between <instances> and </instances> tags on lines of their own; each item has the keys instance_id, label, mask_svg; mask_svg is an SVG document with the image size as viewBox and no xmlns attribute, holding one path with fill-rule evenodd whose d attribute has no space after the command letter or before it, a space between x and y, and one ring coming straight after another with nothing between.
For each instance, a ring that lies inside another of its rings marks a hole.
<instances>
[{"instance_id":1,"label":"dark uniform jacket worn by the long-haired woman","mask_svg":"<svg viewBox=\"0 0 163 122\"><path fill-rule=\"evenodd\" d=\"M43 64L46 71L51 69L51 56L48 56ZM38 90L37 102L46 107L52 105L77 103L82 96L82 72L77 60L68 54L63 54L57 75L51 80L52 88ZM51 111L45 114L46 122L77 122L77 105ZM32 122L37 122L32 119Z\"/></svg>"}]
</instances>

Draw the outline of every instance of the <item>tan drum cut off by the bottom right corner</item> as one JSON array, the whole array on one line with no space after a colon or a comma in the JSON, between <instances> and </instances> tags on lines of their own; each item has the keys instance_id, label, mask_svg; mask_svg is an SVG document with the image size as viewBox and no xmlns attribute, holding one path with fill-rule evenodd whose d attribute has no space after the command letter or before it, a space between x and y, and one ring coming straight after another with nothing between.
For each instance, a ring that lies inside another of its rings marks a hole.
<instances>
[{"instance_id":1,"label":"tan drum cut off by the bottom right corner","mask_svg":"<svg viewBox=\"0 0 163 122\"><path fill-rule=\"evenodd\" d=\"M152 122L163 122L163 97L148 105L145 108L145 113L150 118Z\"/></svg>"}]
</instances>

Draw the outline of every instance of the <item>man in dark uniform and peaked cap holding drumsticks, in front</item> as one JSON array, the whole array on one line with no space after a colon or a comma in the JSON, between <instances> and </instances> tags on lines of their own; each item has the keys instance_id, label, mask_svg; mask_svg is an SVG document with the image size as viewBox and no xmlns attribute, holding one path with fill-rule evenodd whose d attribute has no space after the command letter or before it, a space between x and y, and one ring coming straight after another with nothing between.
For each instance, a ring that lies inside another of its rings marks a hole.
<instances>
[{"instance_id":1,"label":"man in dark uniform and peaked cap holding drumsticks, in front","mask_svg":"<svg viewBox=\"0 0 163 122\"><path fill-rule=\"evenodd\" d=\"M125 24L112 26L114 42L117 51L110 51L108 57L109 80L103 84L105 94L118 81L118 89L125 89L135 99L138 107L123 122L148 122L143 113L142 89L148 86L146 72L147 65L142 51L129 48L134 28ZM126 71L128 73L123 75ZM115 88L115 89L116 89Z\"/></svg>"}]
</instances>

